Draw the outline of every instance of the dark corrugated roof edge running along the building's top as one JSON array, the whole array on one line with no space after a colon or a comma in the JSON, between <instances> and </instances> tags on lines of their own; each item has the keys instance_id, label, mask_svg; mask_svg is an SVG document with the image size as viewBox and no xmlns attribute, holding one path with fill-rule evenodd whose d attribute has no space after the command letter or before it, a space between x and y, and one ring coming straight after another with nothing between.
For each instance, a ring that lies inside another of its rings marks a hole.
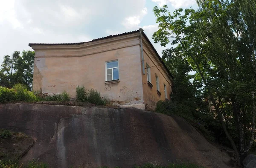
<instances>
[{"instance_id":1,"label":"dark corrugated roof edge running along the building's top","mask_svg":"<svg viewBox=\"0 0 256 168\"><path fill-rule=\"evenodd\" d=\"M121 35L130 35L133 33L137 33L140 32L140 30L135 30L132 32L125 32L125 33L121 33L118 35L109 35L103 38L96 38L93 39L92 41L88 41L88 42L80 42L80 43L29 43L29 46L33 46L33 45L40 45L40 46L55 46L55 45L79 45L79 44L84 44L84 43L90 43L93 41L99 41L99 40L103 40L103 39L108 39L108 38L113 38L113 37L117 37L117 36L121 36ZM148 41L148 43L150 44L150 46L152 47L152 49L154 50L154 52L157 54L157 57L159 59L159 61L163 64L163 67L165 67L166 71L168 72L168 74L174 78L174 76L172 75L172 73L169 71L169 69L166 67L166 64L162 61L162 58L160 57L160 55L158 54L157 50L154 48L153 44L151 43L151 41L148 39L148 37L145 35L144 32L142 32L142 34L144 35L144 37L146 38L146 40Z\"/></svg>"}]
</instances>

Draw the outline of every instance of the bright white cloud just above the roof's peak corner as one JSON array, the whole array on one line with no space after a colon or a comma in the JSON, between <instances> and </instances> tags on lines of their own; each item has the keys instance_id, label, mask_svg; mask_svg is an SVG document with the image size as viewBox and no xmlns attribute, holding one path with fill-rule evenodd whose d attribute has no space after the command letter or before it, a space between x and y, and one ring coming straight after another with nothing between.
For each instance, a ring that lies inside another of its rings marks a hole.
<instances>
[{"instance_id":1,"label":"bright white cloud just above the roof's peak corner","mask_svg":"<svg viewBox=\"0 0 256 168\"><path fill-rule=\"evenodd\" d=\"M140 11L140 14L136 15L136 16L130 16L130 17L126 17L125 20L123 21L123 26L125 26L125 28L127 29L136 29L138 28L141 20L143 19L143 17L148 14L148 10L147 8L143 8Z\"/></svg>"}]
</instances>

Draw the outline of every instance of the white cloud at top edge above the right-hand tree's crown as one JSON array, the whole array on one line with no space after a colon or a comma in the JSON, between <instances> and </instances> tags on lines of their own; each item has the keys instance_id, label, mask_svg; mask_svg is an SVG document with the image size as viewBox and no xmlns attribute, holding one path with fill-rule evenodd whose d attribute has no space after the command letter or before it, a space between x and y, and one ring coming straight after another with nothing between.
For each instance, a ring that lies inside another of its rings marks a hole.
<instances>
[{"instance_id":1,"label":"white cloud at top edge above the right-hand tree's crown","mask_svg":"<svg viewBox=\"0 0 256 168\"><path fill-rule=\"evenodd\" d=\"M178 9L181 7L190 7L196 4L195 0L152 0L152 1L156 2L160 7L168 3L171 3L175 9Z\"/></svg>"}]
</instances>

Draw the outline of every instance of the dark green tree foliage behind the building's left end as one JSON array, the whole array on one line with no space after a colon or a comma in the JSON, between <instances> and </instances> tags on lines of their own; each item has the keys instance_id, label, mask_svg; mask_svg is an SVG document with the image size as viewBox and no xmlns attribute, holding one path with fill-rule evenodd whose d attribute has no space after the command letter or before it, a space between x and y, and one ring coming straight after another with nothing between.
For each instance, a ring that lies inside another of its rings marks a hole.
<instances>
[{"instance_id":1,"label":"dark green tree foliage behind the building's left end","mask_svg":"<svg viewBox=\"0 0 256 168\"><path fill-rule=\"evenodd\" d=\"M34 56L35 52L30 50L23 50L21 55L15 51L12 57L5 55L0 69L0 85L10 88L21 83L32 90Z\"/></svg>"}]
</instances>

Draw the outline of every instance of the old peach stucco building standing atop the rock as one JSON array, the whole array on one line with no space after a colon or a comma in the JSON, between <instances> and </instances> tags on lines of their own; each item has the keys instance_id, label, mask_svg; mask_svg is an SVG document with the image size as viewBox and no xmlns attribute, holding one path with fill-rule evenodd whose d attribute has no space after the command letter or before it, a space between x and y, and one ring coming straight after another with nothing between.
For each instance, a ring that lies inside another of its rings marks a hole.
<instances>
[{"instance_id":1,"label":"old peach stucco building standing atop the rock","mask_svg":"<svg viewBox=\"0 0 256 168\"><path fill-rule=\"evenodd\" d=\"M139 29L81 43L29 43L35 50L33 90L76 96L76 87L98 90L120 106L156 107L169 100L172 74Z\"/></svg>"}]
</instances>

